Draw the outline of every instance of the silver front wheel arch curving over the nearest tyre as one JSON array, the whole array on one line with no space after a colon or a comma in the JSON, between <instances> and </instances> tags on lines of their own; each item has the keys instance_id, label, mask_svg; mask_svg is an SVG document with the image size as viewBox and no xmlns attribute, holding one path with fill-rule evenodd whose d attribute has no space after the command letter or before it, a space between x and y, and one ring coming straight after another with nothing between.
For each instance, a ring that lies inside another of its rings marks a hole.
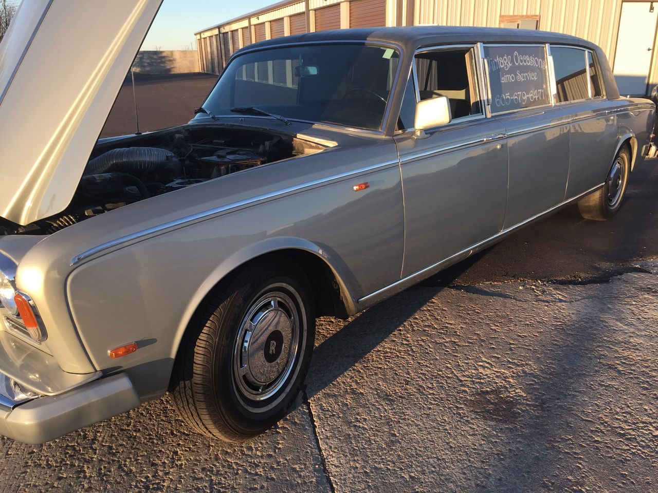
<instances>
[{"instance_id":1,"label":"silver front wheel arch curving over the nearest tyre","mask_svg":"<svg viewBox=\"0 0 658 493\"><path fill-rule=\"evenodd\" d=\"M172 358L176 358L180 342L195 312L219 283L251 262L265 258L272 258L274 261L281 256L291 258L305 271L319 271L319 275L309 276L309 283L313 290L311 294L316 303L318 316L331 315L346 318L357 312L355 298L351 296L349 287L353 284L347 282L348 279L352 279L351 273L340 260L336 260L334 256L328 255L325 249L305 239L294 237L266 239L238 250L207 275L203 284L191 297L190 303L180 319L171 348Z\"/></svg>"}]
</instances>

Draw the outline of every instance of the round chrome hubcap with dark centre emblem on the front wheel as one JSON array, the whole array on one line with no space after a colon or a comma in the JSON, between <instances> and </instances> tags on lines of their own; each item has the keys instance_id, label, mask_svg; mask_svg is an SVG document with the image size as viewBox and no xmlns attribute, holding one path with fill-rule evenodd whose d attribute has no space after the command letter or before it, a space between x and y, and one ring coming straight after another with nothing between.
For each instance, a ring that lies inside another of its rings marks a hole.
<instances>
[{"instance_id":1,"label":"round chrome hubcap with dark centre emblem on the front wheel","mask_svg":"<svg viewBox=\"0 0 658 493\"><path fill-rule=\"evenodd\" d=\"M256 300L244 317L234 350L234 378L241 394L264 400L286 383L299 339L295 302L274 291Z\"/></svg>"}]
</instances>

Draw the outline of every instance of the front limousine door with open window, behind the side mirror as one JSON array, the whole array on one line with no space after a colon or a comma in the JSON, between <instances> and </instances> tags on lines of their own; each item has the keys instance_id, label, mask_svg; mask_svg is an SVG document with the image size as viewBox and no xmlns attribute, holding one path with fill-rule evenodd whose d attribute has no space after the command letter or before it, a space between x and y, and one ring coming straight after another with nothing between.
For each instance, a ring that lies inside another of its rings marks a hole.
<instances>
[{"instance_id":1,"label":"front limousine door with open window, behind the side mirror","mask_svg":"<svg viewBox=\"0 0 658 493\"><path fill-rule=\"evenodd\" d=\"M505 128L484 118L474 47L417 53L413 69L415 91L407 91L403 112L410 99L444 95L453 119L417 138L407 116L410 131L395 136L405 204L402 277L498 233L507 199Z\"/></svg>"}]
</instances>

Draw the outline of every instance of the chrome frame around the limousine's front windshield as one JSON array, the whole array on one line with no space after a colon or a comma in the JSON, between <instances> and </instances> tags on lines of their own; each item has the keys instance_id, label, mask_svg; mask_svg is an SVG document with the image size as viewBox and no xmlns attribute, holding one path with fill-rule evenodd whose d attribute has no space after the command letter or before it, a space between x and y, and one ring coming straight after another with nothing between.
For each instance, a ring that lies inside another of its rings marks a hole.
<instances>
[{"instance_id":1,"label":"chrome frame around the limousine's front windshield","mask_svg":"<svg viewBox=\"0 0 658 493\"><path fill-rule=\"evenodd\" d=\"M297 118L288 118L291 122L300 122L300 123L308 123L308 124L313 124L313 125L322 125L326 126L329 128L340 128L340 129L345 129L353 132L359 132L359 133L369 133L370 135L386 135L386 128L388 127L388 122L391 118L391 106L392 106L392 99L393 95L395 94L395 91L397 91L397 86L399 85L399 80L400 80L400 74L401 74L401 69L403 65L403 60L405 57L405 51L401 45L398 45L397 43L392 43L391 41L368 41L368 40L359 40L359 39L327 39L325 41L295 41L295 42L289 42L289 43L272 43L270 45L266 46L261 46L261 47L244 47L241 48L240 50L234 52L230 59L228 59L228 62L226 62L226 65L222 69L222 72L219 74L217 80L215 81L215 84L213 84L213 87L209 91L208 95L204 99L207 101L208 97L213 93L215 90L216 85L219 83L219 81L222 79L222 76L226 74L226 68L234 62L237 58L241 57L242 55L246 55L247 53L254 53L256 51L266 51L269 49L279 49L279 48L284 48L284 47L293 47L293 46L304 46L304 45L364 45L364 46L374 46L374 47L386 47L386 48L393 48L397 53L399 54L399 62L397 63L397 68L395 70L395 76L393 76L393 85L391 86L391 89L388 94L388 99L386 100L386 108L384 108L384 114L382 116L382 124L380 125L379 129L371 129L371 128L361 128L361 127L349 127L341 124L335 124L335 123L330 123L330 122L315 122L313 120L299 120ZM236 56L237 55L237 56ZM405 81L406 82L406 81ZM216 115L217 118L235 118L237 115ZM240 115L240 118L269 118L268 116L257 116L257 115Z\"/></svg>"}]
</instances>

